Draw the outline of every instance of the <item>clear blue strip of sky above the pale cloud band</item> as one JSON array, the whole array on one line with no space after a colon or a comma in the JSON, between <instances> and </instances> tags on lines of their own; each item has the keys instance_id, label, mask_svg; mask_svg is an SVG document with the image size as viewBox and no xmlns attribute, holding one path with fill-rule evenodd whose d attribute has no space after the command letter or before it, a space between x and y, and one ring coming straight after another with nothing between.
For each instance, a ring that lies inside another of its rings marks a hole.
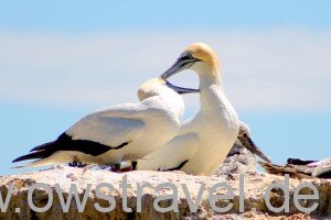
<instances>
[{"instance_id":1,"label":"clear blue strip of sky above the pale cloud band","mask_svg":"<svg viewBox=\"0 0 331 220\"><path fill-rule=\"evenodd\" d=\"M328 0L232 1L11 1L2 2L1 28L12 31L97 33L142 29L330 28Z\"/></svg>"}]
</instances>

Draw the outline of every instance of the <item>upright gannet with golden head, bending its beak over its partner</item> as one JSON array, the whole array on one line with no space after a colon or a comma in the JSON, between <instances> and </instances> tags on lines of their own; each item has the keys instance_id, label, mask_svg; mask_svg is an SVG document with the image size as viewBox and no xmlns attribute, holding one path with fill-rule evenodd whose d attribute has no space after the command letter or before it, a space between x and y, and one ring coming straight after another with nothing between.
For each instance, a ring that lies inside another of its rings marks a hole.
<instances>
[{"instance_id":1,"label":"upright gannet with golden head, bending its beak over its partner","mask_svg":"<svg viewBox=\"0 0 331 220\"><path fill-rule=\"evenodd\" d=\"M218 58L210 46L202 43L190 45L161 77L167 79L184 69L192 69L199 75L201 109L193 119L182 124L173 140L148 157L160 158L162 164L161 167L152 164L152 169L213 175L237 139L239 121L225 97ZM171 157L171 163L167 157ZM148 160L139 161L137 169L145 169L145 162Z\"/></svg>"}]
</instances>

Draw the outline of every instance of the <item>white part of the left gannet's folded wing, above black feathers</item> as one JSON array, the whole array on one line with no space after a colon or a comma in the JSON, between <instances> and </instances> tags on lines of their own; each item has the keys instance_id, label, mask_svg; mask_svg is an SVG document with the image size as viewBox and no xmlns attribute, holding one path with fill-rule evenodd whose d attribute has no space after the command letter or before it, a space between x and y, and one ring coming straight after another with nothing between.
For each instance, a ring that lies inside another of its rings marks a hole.
<instances>
[{"instance_id":1,"label":"white part of the left gannet's folded wing, above black feathers","mask_svg":"<svg viewBox=\"0 0 331 220\"><path fill-rule=\"evenodd\" d=\"M140 103L102 109L81 119L65 133L73 140L88 140L116 147L141 136L145 130L143 112L148 109Z\"/></svg>"}]
</instances>

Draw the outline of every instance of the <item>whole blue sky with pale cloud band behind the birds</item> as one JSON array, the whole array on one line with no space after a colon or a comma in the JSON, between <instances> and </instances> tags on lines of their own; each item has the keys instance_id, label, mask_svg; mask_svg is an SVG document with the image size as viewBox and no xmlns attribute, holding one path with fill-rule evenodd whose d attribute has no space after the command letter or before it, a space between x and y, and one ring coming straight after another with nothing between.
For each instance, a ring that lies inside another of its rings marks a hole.
<instances>
[{"instance_id":1,"label":"whole blue sky with pale cloud band behind the birds","mask_svg":"<svg viewBox=\"0 0 331 220\"><path fill-rule=\"evenodd\" d=\"M136 101L211 44L226 94L276 163L331 156L330 1L11 1L0 8L0 174L84 114ZM196 86L194 74L174 80ZM186 98L186 117L197 109Z\"/></svg>"}]
</instances>

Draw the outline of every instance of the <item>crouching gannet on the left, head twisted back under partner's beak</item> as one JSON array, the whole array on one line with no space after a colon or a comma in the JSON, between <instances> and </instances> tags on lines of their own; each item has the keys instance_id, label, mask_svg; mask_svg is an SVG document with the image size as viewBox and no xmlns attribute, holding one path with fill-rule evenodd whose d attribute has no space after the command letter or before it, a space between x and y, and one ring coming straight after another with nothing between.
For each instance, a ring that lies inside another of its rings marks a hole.
<instances>
[{"instance_id":1,"label":"crouching gannet on the left, head twisted back under partner's beak","mask_svg":"<svg viewBox=\"0 0 331 220\"><path fill-rule=\"evenodd\" d=\"M175 87L154 78L138 90L138 103L93 112L55 141L39 145L13 162L36 160L25 166L58 163L109 164L136 161L170 141L179 131L184 102L179 94L195 89Z\"/></svg>"}]
</instances>

